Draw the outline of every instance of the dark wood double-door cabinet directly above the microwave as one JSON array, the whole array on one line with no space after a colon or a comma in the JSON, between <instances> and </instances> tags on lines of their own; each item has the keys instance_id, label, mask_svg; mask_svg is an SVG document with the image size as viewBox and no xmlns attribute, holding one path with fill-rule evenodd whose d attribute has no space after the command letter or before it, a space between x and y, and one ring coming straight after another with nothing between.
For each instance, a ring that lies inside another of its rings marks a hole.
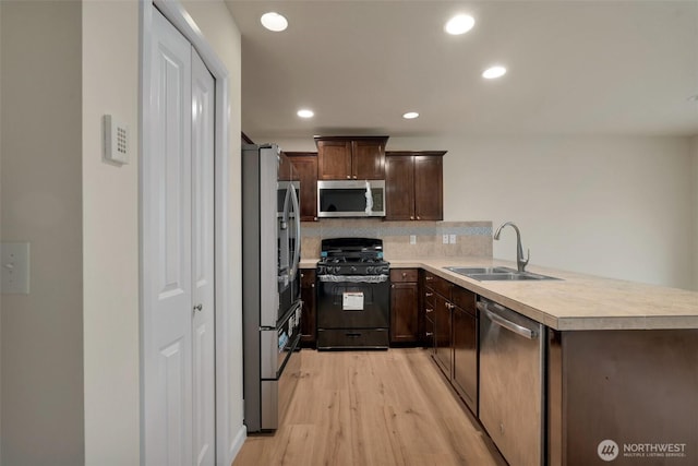
<instances>
[{"instance_id":1,"label":"dark wood double-door cabinet directly above the microwave","mask_svg":"<svg viewBox=\"0 0 698 466\"><path fill-rule=\"evenodd\" d=\"M318 180L385 179L388 136L316 136Z\"/></svg>"}]
</instances>

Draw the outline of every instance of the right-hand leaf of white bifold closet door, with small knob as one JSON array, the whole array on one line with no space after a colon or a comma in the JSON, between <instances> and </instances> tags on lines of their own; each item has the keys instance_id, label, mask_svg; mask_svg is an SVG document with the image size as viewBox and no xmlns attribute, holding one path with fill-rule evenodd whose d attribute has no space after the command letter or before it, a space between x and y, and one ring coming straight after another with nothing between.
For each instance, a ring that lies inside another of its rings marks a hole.
<instances>
[{"instance_id":1,"label":"right-hand leaf of white bifold closet door, with small knob","mask_svg":"<svg viewBox=\"0 0 698 466\"><path fill-rule=\"evenodd\" d=\"M215 82L192 50L192 262L194 464L215 463L214 325Z\"/></svg>"}]
</instances>

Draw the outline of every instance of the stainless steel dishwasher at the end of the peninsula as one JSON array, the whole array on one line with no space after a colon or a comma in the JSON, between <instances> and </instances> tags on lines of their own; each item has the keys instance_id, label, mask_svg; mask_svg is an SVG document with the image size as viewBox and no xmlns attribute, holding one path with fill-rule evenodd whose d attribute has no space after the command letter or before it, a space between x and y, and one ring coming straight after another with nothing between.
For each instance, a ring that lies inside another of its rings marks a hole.
<instances>
[{"instance_id":1,"label":"stainless steel dishwasher at the end of the peninsula","mask_svg":"<svg viewBox=\"0 0 698 466\"><path fill-rule=\"evenodd\" d=\"M480 297L480 421L510 465L545 457L545 327Z\"/></svg>"}]
</instances>

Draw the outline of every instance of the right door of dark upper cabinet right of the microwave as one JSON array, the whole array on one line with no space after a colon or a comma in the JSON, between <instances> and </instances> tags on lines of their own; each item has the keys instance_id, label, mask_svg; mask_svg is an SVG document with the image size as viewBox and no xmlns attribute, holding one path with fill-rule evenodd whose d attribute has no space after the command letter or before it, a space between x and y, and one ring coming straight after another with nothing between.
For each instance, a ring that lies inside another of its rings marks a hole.
<instances>
[{"instance_id":1,"label":"right door of dark upper cabinet right of the microwave","mask_svg":"<svg viewBox=\"0 0 698 466\"><path fill-rule=\"evenodd\" d=\"M443 157L414 156L414 217L443 220Z\"/></svg>"}]
</instances>

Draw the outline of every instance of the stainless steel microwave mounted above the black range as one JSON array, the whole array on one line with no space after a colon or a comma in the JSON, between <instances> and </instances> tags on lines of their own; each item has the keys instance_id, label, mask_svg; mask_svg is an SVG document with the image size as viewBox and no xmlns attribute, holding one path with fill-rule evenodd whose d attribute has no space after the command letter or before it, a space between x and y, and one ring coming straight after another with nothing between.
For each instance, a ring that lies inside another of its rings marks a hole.
<instances>
[{"instance_id":1,"label":"stainless steel microwave mounted above the black range","mask_svg":"<svg viewBox=\"0 0 698 466\"><path fill-rule=\"evenodd\" d=\"M317 216L385 217L385 181L317 181Z\"/></svg>"}]
</instances>

